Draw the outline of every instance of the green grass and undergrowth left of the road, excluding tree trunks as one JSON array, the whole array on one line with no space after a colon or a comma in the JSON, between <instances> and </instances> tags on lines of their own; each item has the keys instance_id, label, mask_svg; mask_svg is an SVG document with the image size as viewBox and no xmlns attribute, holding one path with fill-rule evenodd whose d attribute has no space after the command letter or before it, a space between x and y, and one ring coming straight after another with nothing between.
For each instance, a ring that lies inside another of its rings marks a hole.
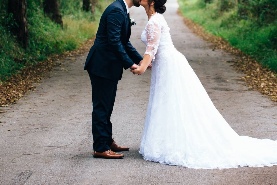
<instances>
[{"instance_id":1,"label":"green grass and undergrowth left of the road, excluding tree trunks","mask_svg":"<svg viewBox=\"0 0 277 185\"><path fill-rule=\"evenodd\" d=\"M42 0L27 0L29 48L23 49L10 32L14 24L7 14L7 1L0 2L0 82L19 69L49 56L74 50L97 30L102 7L112 0L99 1L96 14L82 11L82 0L60 0L64 29L44 16Z\"/></svg>"}]
</instances>

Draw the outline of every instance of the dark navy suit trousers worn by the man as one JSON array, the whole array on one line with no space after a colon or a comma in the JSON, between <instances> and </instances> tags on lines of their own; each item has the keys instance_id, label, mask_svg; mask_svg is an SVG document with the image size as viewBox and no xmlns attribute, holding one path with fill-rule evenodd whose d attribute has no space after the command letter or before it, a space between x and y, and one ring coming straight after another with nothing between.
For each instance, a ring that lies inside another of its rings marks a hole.
<instances>
[{"instance_id":1,"label":"dark navy suit trousers worn by the man","mask_svg":"<svg viewBox=\"0 0 277 185\"><path fill-rule=\"evenodd\" d=\"M118 82L88 73L92 88L93 151L103 152L109 150L113 142L111 114Z\"/></svg>"}]
</instances>

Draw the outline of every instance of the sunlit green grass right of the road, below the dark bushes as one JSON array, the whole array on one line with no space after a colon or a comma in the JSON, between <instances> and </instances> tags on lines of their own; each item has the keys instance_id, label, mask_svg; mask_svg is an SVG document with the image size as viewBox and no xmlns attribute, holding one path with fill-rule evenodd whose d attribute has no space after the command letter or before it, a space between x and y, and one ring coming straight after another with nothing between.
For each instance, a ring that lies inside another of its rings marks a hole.
<instances>
[{"instance_id":1,"label":"sunlit green grass right of the road, below the dark bushes","mask_svg":"<svg viewBox=\"0 0 277 185\"><path fill-rule=\"evenodd\" d=\"M206 32L220 36L244 53L253 56L277 72L277 21L261 24L252 19L239 19L236 8L221 12L218 1L203 4L201 0L179 0L184 16L202 25Z\"/></svg>"}]
</instances>

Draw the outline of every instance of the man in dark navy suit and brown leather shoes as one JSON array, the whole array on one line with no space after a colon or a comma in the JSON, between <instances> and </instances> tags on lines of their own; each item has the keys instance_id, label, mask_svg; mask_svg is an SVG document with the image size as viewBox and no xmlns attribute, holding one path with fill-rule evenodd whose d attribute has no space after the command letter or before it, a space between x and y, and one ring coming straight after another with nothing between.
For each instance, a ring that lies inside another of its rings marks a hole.
<instances>
[{"instance_id":1,"label":"man in dark navy suit and brown leather shoes","mask_svg":"<svg viewBox=\"0 0 277 185\"><path fill-rule=\"evenodd\" d=\"M92 87L94 158L123 158L124 155L115 152L129 150L128 147L118 146L113 140L110 120L123 68L137 69L143 60L129 41L129 8L133 5L139 7L140 1L117 0L106 8L87 56L84 69L89 73Z\"/></svg>"}]
</instances>

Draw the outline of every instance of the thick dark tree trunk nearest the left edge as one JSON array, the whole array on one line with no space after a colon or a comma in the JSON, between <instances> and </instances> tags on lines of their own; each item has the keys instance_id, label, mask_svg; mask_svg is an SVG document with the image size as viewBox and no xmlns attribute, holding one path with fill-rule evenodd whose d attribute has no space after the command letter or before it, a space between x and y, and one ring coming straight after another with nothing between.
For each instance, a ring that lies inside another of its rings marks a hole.
<instances>
[{"instance_id":1,"label":"thick dark tree trunk nearest the left edge","mask_svg":"<svg viewBox=\"0 0 277 185\"><path fill-rule=\"evenodd\" d=\"M15 25L12 32L25 48L29 46L29 31L27 26L27 0L9 0L8 13L13 14Z\"/></svg>"}]
</instances>

